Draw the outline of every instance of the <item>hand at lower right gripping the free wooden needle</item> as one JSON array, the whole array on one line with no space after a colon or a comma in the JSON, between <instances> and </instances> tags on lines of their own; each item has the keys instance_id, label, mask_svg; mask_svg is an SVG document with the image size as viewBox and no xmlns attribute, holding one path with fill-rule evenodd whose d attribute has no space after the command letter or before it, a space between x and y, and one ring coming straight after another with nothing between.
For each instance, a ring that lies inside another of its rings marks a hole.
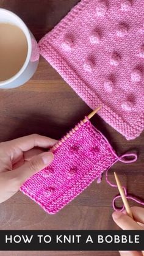
<instances>
[{"instance_id":1,"label":"hand at lower right gripping the free wooden needle","mask_svg":"<svg viewBox=\"0 0 144 256\"><path fill-rule=\"evenodd\" d=\"M131 207L134 220L125 213L115 211L112 214L113 221L123 230L144 230L144 208ZM121 256L142 256L142 252L120 252Z\"/></svg>"}]
</instances>

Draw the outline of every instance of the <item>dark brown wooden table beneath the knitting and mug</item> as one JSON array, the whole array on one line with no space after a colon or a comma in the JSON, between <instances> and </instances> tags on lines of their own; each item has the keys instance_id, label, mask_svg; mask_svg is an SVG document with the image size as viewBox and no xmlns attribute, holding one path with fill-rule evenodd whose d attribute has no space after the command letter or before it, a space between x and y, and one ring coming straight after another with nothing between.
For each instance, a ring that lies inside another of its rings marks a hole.
<instances>
[{"instance_id":1,"label":"dark brown wooden table beneath the knitting and mug","mask_svg":"<svg viewBox=\"0 0 144 256\"><path fill-rule=\"evenodd\" d=\"M0 0L0 7L12 10L29 26L39 40L54 27L79 0ZM0 92L0 141L38 133L60 139L90 108L42 57L31 81L18 89ZM133 164L115 164L109 171L114 181L117 170L131 194L143 197L144 133L134 141L126 139L100 117L92 120L103 131L118 155L136 150ZM136 188L136 191L135 191ZM18 192L0 205L1 229L118 229L112 221L112 198L117 189L92 183L80 196L56 215L48 215L27 196ZM132 202L130 202L132 205ZM26 252L1 252L1 255L27 255ZM118 255L118 252L29 252L29 255Z\"/></svg>"}]
</instances>

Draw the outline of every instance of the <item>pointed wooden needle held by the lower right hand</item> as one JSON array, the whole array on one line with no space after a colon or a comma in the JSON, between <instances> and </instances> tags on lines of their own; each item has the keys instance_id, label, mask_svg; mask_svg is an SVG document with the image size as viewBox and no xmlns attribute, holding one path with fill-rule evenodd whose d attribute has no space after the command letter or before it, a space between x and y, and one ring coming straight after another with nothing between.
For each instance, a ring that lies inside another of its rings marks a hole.
<instances>
[{"instance_id":1,"label":"pointed wooden needle held by the lower right hand","mask_svg":"<svg viewBox=\"0 0 144 256\"><path fill-rule=\"evenodd\" d=\"M129 217L134 219L134 217L132 215L131 208L129 207L129 204L128 204L128 200L126 199L126 196L124 194L124 190L123 190L123 188L121 186L121 183L120 183L120 180L118 178L118 175L115 172L114 172L114 175L115 175L115 180L117 182L118 190L119 190L120 195L121 195L121 199L123 200L124 207L126 208L126 213L128 214Z\"/></svg>"}]
</instances>

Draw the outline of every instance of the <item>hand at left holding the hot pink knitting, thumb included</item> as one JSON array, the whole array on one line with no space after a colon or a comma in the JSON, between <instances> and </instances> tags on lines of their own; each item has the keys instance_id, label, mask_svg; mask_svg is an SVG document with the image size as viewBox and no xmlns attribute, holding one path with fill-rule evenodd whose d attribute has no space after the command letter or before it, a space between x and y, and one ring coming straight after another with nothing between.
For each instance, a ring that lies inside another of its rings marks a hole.
<instances>
[{"instance_id":1,"label":"hand at left holding the hot pink knitting, thumb included","mask_svg":"<svg viewBox=\"0 0 144 256\"><path fill-rule=\"evenodd\" d=\"M27 178L52 162L54 155L46 150L56 142L32 134L0 143L0 203L12 197Z\"/></svg>"}]
</instances>

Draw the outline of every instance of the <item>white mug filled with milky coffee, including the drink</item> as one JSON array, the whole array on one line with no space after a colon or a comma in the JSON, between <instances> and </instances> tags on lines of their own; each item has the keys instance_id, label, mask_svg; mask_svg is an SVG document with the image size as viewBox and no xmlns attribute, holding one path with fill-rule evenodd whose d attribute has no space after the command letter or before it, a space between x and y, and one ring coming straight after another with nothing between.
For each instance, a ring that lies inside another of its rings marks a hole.
<instances>
[{"instance_id":1,"label":"white mug filled with milky coffee, including the drink","mask_svg":"<svg viewBox=\"0 0 144 256\"><path fill-rule=\"evenodd\" d=\"M0 89L21 86L37 69L37 42L21 18L1 8L0 35Z\"/></svg>"}]
</instances>

